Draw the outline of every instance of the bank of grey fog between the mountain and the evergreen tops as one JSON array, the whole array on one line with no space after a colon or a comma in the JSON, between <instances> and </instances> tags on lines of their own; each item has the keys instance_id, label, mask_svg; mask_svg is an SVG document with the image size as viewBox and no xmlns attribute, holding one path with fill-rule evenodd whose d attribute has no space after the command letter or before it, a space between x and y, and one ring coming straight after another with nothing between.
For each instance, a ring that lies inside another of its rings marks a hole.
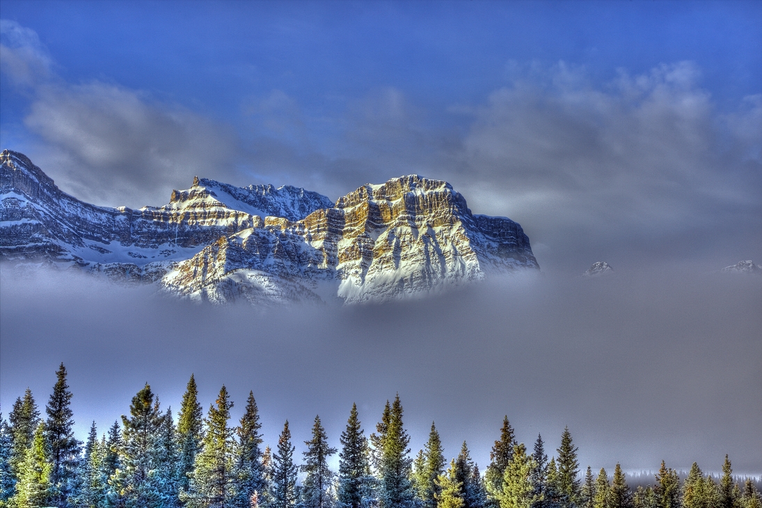
<instances>
[{"instance_id":1,"label":"bank of grey fog between the mountain and the evergreen tops","mask_svg":"<svg viewBox=\"0 0 762 508\"><path fill-rule=\"evenodd\" d=\"M205 408L226 384L234 417L253 390L271 444L287 418L308 439L315 414L338 444L352 402L369 432L399 391L414 452L434 420L448 456L466 439L484 466L507 414L549 449L568 425L583 466L718 470L728 453L762 472L758 277L546 275L351 308L211 308L44 273L0 289L2 407L27 386L44 404L63 361L81 437L144 382L177 408L194 372Z\"/></svg>"}]
</instances>

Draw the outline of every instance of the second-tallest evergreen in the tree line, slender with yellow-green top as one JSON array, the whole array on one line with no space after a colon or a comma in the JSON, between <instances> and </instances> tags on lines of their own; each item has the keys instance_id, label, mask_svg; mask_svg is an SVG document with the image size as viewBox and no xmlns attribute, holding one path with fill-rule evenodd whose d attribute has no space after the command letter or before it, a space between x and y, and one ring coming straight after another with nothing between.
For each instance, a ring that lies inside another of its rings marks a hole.
<instances>
[{"instance_id":1,"label":"second-tallest evergreen in the tree line, slender with yellow-green top","mask_svg":"<svg viewBox=\"0 0 762 508\"><path fill-rule=\"evenodd\" d=\"M178 489L188 490L196 455L201 447L203 411L198 401L196 380L191 379L185 388L178 414Z\"/></svg>"}]
</instances>

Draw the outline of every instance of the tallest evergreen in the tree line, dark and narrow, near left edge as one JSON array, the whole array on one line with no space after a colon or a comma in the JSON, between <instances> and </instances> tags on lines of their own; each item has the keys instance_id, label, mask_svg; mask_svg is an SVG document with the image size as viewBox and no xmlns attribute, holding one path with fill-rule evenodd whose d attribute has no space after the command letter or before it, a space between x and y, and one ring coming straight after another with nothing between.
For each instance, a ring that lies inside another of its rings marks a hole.
<instances>
[{"instance_id":1,"label":"tallest evergreen in the tree line, dark and narrow, near left edge","mask_svg":"<svg viewBox=\"0 0 762 508\"><path fill-rule=\"evenodd\" d=\"M45 407L47 414L45 431L50 445L50 460L53 464L53 472L50 477L55 490L53 503L63 507L66 506L66 500L74 486L79 447L82 443L74 438L74 430L72 430L74 420L72 419L72 409L69 407L72 401L72 392L69 391L69 385L66 384L66 367L63 366L63 363L56 371L56 377L56 385L53 386L50 401Z\"/></svg>"}]
</instances>

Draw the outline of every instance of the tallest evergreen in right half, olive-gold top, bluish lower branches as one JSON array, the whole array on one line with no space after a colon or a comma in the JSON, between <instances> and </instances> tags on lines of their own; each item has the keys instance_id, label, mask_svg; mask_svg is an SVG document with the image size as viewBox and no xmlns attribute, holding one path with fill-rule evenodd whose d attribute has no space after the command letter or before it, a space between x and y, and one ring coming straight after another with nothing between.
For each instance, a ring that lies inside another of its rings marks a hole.
<instances>
[{"instance_id":1,"label":"tallest evergreen in right half, olive-gold top, bluish lower branches","mask_svg":"<svg viewBox=\"0 0 762 508\"><path fill-rule=\"evenodd\" d=\"M389 406L387 402L387 407ZM402 403L399 394L387 415L388 422L383 429L379 458L379 504L381 508L407 508L415 503L410 481L411 460L409 457L410 436L402 424ZM377 427L379 430L382 427ZM380 433L380 432L379 432Z\"/></svg>"}]
</instances>

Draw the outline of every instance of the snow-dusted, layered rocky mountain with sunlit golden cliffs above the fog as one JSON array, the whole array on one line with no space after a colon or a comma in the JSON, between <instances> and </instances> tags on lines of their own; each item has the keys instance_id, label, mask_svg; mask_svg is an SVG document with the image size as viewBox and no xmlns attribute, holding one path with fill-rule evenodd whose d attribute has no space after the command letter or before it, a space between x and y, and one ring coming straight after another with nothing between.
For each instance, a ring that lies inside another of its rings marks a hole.
<instances>
[{"instance_id":1,"label":"snow-dusted, layered rocky mountain with sunlit golden cliffs above the fog","mask_svg":"<svg viewBox=\"0 0 762 508\"><path fill-rule=\"evenodd\" d=\"M195 178L167 205L133 210L76 200L18 152L0 163L0 260L17 265L78 267L218 303L377 302L539 269L520 225L474 215L450 184L418 175L335 203Z\"/></svg>"}]
</instances>

